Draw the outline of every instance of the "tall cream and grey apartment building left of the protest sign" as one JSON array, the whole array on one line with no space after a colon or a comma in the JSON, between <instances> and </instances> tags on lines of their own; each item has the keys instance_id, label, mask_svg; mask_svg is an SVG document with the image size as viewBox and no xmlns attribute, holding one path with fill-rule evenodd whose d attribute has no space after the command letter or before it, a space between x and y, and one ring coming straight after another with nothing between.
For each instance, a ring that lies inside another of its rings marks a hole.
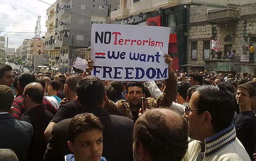
<instances>
[{"instance_id":1,"label":"tall cream and grey apartment building left of the protest sign","mask_svg":"<svg viewBox=\"0 0 256 161\"><path fill-rule=\"evenodd\" d=\"M51 65L59 66L60 72L66 72L68 71L67 67L72 66L76 59L72 50L89 47L91 24L109 23L110 10L118 9L118 5L117 0L57 0L54 4L56 4L56 8L50 10L53 11L51 15L55 16L52 18L55 19L55 22L47 26L45 49L52 51L55 55L51 57L51 59L55 57L55 61L51 61ZM48 28L49 32L53 32L53 34L48 32ZM51 28L52 30L50 30ZM57 51L53 51L55 49L59 50L58 56L56 56Z\"/></svg>"}]
</instances>

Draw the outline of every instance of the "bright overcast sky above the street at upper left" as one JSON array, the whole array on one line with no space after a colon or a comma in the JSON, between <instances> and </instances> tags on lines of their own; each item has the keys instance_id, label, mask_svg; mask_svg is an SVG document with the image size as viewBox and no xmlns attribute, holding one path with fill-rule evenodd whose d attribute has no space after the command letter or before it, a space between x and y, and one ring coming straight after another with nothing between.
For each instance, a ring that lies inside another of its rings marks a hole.
<instances>
[{"instance_id":1,"label":"bright overcast sky above the street at upper left","mask_svg":"<svg viewBox=\"0 0 256 161\"><path fill-rule=\"evenodd\" d=\"M42 1L49 4L55 2L55 0ZM41 37L45 35L46 10L50 7L46 3L39 0L0 0L0 36L6 38L6 44L9 37L8 48L19 48L24 39L34 37L38 15L41 16Z\"/></svg>"}]
</instances>

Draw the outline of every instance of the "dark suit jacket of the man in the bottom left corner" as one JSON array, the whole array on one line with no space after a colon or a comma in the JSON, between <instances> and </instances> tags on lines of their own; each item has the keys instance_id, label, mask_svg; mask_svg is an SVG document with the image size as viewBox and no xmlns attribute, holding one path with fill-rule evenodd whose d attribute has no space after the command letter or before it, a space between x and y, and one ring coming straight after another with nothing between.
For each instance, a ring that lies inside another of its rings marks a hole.
<instances>
[{"instance_id":1,"label":"dark suit jacket of the man in the bottom left corner","mask_svg":"<svg viewBox=\"0 0 256 161\"><path fill-rule=\"evenodd\" d=\"M33 135L30 123L14 119L12 114L0 114L0 148L13 150L19 161L26 160Z\"/></svg>"}]
</instances>

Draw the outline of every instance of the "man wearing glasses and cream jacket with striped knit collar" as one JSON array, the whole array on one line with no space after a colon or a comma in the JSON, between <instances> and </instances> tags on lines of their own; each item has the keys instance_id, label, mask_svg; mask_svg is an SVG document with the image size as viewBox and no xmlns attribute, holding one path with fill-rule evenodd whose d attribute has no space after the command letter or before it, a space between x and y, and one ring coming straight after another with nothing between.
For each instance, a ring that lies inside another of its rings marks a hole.
<instances>
[{"instance_id":1,"label":"man wearing glasses and cream jacket with striped knit collar","mask_svg":"<svg viewBox=\"0 0 256 161\"><path fill-rule=\"evenodd\" d=\"M184 117L188 121L188 145L185 161L250 161L232 124L236 99L228 90L198 86L192 94Z\"/></svg>"}]
</instances>

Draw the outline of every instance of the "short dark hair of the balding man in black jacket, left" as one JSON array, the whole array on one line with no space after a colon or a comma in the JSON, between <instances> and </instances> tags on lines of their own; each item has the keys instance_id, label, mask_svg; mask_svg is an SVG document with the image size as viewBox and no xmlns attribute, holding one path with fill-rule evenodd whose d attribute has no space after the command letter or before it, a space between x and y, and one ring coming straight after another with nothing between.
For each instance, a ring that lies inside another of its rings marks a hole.
<instances>
[{"instance_id":1,"label":"short dark hair of the balding man in black jacket, left","mask_svg":"<svg viewBox=\"0 0 256 161\"><path fill-rule=\"evenodd\" d=\"M32 83L34 83L34 82L32 82ZM32 83L29 83L28 85L30 85ZM40 89L40 88L37 88L37 86L33 86L33 85L27 86L27 88L26 88L26 90L24 90L23 94L24 94L24 96L28 95L30 97L30 99L35 103L42 104L42 102L43 102L43 95L44 95L43 88Z\"/></svg>"}]
</instances>

